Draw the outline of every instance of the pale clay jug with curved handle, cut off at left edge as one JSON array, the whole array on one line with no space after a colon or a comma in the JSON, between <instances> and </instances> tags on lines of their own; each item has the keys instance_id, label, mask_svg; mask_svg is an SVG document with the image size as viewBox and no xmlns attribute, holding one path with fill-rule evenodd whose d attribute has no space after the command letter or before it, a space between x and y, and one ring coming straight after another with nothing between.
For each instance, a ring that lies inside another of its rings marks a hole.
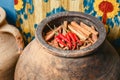
<instances>
[{"instance_id":1,"label":"pale clay jug with curved handle, cut off at left edge","mask_svg":"<svg viewBox=\"0 0 120 80\"><path fill-rule=\"evenodd\" d=\"M0 7L0 80L14 80L14 71L24 43L17 28L9 25Z\"/></svg>"}]
</instances>

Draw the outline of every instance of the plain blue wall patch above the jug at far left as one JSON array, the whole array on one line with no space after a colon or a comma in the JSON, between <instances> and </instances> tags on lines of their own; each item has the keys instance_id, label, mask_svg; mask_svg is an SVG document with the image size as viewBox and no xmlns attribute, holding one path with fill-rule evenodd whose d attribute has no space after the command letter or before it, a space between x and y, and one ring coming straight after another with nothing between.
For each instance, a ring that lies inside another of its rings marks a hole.
<instances>
[{"instance_id":1,"label":"plain blue wall patch above the jug at far left","mask_svg":"<svg viewBox=\"0 0 120 80\"><path fill-rule=\"evenodd\" d=\"M16 13L14 10L14 0L0 0L0 7L5 9L8 23L15 25Z\"/></svg>"}]
</instances>

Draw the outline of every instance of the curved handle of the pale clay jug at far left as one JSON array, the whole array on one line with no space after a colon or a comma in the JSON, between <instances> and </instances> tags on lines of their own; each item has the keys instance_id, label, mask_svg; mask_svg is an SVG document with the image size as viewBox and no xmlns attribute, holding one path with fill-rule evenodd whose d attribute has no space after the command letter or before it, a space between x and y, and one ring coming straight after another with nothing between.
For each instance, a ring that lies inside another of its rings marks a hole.
<instances>
[{"instance_id":1,"label":"curved handle of the pale clay jug at far left","mask_svg":"<svg viewBox=\"0 0 120 80\"><path fill-rule=\"evenodd\" d=\"M24 48L23 38L16 27L14 27L13 25L4 24L0 27L0 32L11 33L16 39L16 44L18 46L18 53L21 53L23 51Z\"/></svg>"}]
</instances>

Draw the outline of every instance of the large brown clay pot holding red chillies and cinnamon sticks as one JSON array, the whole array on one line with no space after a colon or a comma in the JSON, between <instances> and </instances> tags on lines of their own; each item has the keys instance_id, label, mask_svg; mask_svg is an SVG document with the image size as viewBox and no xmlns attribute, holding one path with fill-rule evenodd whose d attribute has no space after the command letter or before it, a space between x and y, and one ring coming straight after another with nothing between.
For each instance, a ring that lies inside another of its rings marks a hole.
<instances>
[{"instance_id":1,"label":"large brown clay pot holding red chillies and cinnamon sticks","mask_svg":"<svg viewBox=\"0 0 120 80\"><path fill-rule=\"evenodd\" d=\"M61 50L44 40L50 26L63 21L83 21L94 25L99 32L95 44L81 50ZM80 12L62 12L44 19L36 30L35 39L20 56L15 80L120 80L120 58L106 40L103 24L96 18Z\"/></svg>"}]
</instances>

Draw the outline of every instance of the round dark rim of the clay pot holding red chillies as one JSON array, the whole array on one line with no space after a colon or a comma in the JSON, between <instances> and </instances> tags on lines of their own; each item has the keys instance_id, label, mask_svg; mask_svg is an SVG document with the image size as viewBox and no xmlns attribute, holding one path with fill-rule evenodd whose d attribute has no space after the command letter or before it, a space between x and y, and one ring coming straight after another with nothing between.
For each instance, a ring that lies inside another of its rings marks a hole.
<instances>
[{"instance_id":1,"label":"round dark rim of the clay pot holding red chillies","mask_svg":"<svg viewBox=\"0 0 120 80\"><path fill-rule=\"evenodd\" d=\"M99 33L98 40L93 45L91 45L87 48L84 48L84 49L80 49L80 50L62 50L62 49L57 49L57 48L47 44L42 36L44 26L46 26L46 24L48 24L51 20L54 20L54 19L57 19L60 17L65 17L65 16L79 16L79 17L83 17L83 18L86 18L87 20L91 21L94 25L97 26L97 27L96 26L94 26L94 27L97 29L97 31ZM44 47L46 50L48 50L49 53L56 55L56 56L73 57L74 58L74 57L87 56L87 55L91 54L93 51L95 51L99 46L101 46L106 38L106 30L104 28L103 23L91 15L88 15L88 14L85 14L82 12L66 11L66 12L60 12L60 13L54 14L52 16L49 16L49 17L46 17L45 19L43 19L38 24L35 36L37 38L37 41L42 45L42 47Z\"/></svg>"}]
</instances>

